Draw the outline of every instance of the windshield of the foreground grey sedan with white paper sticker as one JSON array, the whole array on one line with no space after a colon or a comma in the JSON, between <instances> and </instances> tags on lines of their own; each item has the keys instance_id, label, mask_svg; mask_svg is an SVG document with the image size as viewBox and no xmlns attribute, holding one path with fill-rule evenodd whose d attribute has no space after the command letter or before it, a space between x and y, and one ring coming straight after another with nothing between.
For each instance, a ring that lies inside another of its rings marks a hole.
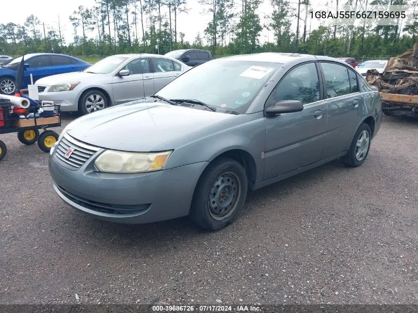
<instances>
[{"instance_id":1,"label":"windshield of the foreground grey sedan with white paper sticker","mask_svg":"<svg viewBox=\"0 0 418 313\"><path fill-rule=\"evenodd\" d=\"M218 111L245 113L280 63L216 60L188 70L156 95L202 101Z\"/></svg>"}]
</instances>

